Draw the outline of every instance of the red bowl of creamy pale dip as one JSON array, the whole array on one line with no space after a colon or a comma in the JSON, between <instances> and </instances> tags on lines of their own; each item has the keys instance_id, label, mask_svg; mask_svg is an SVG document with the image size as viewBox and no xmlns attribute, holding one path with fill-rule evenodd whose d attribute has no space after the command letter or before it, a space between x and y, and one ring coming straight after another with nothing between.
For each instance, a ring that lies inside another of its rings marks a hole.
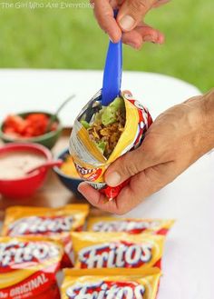
<instances>
[{"instance_id":1,"label":"red bowl of creamy pale dip","mask_svg":"<svg viewBox=\"0 0 214 299\"><path fill-rule=\"evenodd\" d=\"M43 145L8 144L1 146L0 194L19 199L33 195L44 184L48 170L43 167L32 174L26 173L51 160L51 152Z\"/></svg>"}]
</instances>

